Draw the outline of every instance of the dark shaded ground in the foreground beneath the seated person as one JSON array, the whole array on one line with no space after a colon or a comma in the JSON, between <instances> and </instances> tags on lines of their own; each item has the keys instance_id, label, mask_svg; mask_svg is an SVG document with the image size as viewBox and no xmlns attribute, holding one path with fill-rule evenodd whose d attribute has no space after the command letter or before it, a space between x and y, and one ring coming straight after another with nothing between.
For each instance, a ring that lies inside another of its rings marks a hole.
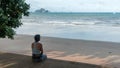
<instances>
[{"instance_id":1,"label":"dark shaded ground in the foreground beneath the seated person","mask_svg":"<svg viewBox=\"0 0 120 68\"><path fill-rule=\"evenodd\" d=\"M41 63L33 63L31 56L0 53L0 68L101 68L97 65L63 61L48 58Z\"/></svg>"}]
</instances>

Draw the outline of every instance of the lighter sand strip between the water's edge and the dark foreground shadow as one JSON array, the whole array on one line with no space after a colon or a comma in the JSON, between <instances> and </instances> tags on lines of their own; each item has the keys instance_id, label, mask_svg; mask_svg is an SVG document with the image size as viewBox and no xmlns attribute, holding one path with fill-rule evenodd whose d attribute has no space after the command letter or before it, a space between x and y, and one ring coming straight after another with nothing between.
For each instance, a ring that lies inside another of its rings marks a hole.
<instances>
[{"instance_id":1,"label":"lighter sand strip between the water's edge and the dark foreground shadow","mask_svg":"<svg viewBox=\"0 0 120 68\"><path fill-rule=\"evenodd\" d=\"M14 40L0 39L0 52L31 56L33 41L32 35L16 35ZM44 36L41 42L48 58L119 68L120 43Z\"/></svg>"}]
</instances>

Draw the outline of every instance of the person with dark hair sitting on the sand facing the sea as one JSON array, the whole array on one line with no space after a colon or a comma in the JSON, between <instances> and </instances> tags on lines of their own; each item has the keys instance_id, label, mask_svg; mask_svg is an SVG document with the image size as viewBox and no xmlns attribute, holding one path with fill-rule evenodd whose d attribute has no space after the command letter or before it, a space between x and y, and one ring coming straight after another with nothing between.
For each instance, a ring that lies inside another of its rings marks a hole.
<instances>
[{"instance_id":1,"label":"person with dark hair sitting on the sand facing the sea","mask_svg":"<svg viewBox=\"0 0 120 68\"><path fill-rule=\"evenodd\" d=\"M32 59L34 61L43 61L47 59L47 56L43 54L43 46L39 42L40 41L40 35L37 34L34 36L35 42L32 43Z\"/></svg>"}]
</instances>

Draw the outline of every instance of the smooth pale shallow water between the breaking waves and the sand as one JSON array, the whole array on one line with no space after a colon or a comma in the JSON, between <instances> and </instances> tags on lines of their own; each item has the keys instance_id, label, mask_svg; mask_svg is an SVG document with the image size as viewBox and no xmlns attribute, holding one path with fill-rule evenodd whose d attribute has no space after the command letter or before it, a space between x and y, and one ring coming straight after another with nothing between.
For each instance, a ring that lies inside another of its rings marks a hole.
<instances>
[{"instance_id":1,"label":"smooth pale shallow water between the breaking waves and the sand","mask_svg":"<svg viewBox=\"0 0 120 68\"><path fill-rule=\"evenodd\" d=\"M78 22L80 23L80 22ZM41 27L41 29L37 29ZM37 30L36 30L37 29ZM23 25L16 29L18 34L34 35L38 32L43 36L73 38L84 40L98 40L120 42L120 28L98 25L71 25L50 23L29 23L23 22ZM30 31L29 31L30 30ZM48 31L49 30L49 31ZM70 31L69 31L70 30Z\"/></svg>"}]
</instances>

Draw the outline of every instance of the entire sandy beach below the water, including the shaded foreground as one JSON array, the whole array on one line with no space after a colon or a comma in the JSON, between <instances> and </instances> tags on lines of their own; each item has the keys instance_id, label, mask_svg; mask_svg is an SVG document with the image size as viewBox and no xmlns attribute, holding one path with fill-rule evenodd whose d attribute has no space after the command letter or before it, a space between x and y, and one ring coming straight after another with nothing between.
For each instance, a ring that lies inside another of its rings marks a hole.
<instances>
[{"instance_id":1,"label":"entire sandy beach below the water, including the shaded foreground","mask_svg":"<svg viewBox=\"0 0 120 68\"><path fill-rule=\"evenodd\" d=\"M16 35L14 40L0 39L0 67L120 68L120 43L43 36L41 42L48 60L34 67L31 62L33 41L31 35Z\"/></svg>"}]
</instances>

